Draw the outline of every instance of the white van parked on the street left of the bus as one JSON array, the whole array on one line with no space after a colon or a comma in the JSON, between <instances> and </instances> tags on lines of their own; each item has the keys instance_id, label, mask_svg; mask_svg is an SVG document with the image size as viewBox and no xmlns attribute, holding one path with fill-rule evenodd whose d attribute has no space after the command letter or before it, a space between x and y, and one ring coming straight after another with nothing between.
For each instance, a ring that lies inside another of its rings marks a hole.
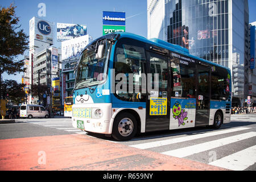
<instances>
[{"instance_id":1,"label":"white van parked on the street left of the bus","mask_svg":"<svg viewBox=\"0 0 256 182\"><path fill-rule=\"evenodd\" d=\"M44 106L23 104L20 106L19 117L30 118L30 119L31 118L49 118L49 113L44 108Z\"/></svg>"}]
</instances>

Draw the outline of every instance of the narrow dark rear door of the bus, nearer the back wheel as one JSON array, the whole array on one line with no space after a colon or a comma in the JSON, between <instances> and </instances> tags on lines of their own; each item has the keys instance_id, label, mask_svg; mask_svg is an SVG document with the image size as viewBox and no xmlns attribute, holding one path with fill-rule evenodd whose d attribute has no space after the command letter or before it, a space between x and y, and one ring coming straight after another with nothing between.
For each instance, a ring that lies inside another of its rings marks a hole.
<instances>
[{"instance_id":1,"label":"narrow dark rear door of the bus, nearer the back wheel","mask_svg":"<svg viewBox=\"0 0 256 182\"><path fill-rule=\"evenodd\" d=\"M197 97L195 126L209 125L210 113L210 67L197 64Z\"/></svg>"}]
</instances>

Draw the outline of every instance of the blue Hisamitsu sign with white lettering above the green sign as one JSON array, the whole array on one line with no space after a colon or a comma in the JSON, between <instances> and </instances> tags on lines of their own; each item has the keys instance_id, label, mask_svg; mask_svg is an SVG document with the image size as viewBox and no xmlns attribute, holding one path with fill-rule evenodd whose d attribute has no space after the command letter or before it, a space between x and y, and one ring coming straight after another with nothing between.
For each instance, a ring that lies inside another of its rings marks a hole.
<instances>
[{"instance_id":1,"label":"blue Hisamitsu sign with white lettering above the green sign","mask_svg":"<svg viewBox=\"0 0 256 182\"><path fill-rule=\"evenodd\" d=\"M125 13L103 11L102 22L104 25L125 26Z\"/></svg>"}]
</instances>

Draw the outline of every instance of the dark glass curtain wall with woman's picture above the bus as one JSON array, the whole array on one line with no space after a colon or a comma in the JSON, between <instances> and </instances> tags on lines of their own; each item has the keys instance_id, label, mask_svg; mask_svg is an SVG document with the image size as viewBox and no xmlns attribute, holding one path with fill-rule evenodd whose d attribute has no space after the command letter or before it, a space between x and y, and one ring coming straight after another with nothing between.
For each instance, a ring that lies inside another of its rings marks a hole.
<instances>
[{"instance_id":1,"label":"dark glass curtain wall with woman's picture above the bus","mask_svg":"<svg viewBox=\"0 0 256 182\"><path fill-rule=\"evenodd\" d=\"M228 67L228 0L166 0L165 39L191 55Z\"/></svg>"}]
</instances>

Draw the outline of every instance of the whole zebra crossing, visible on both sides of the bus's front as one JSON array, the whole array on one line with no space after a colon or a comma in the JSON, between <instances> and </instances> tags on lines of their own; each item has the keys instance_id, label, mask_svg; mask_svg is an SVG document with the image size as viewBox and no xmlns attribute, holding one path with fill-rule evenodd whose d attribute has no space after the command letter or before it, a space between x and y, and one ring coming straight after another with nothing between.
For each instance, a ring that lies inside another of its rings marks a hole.
<instances>
[{"instance_id":1,"label":"whole zebra crossing, visible on both sides of the bus's front","mask_svg":"<svg viewBox=\"0 0 256 182\"><path fill-rule=\"evenodd\" d=\"M44 119L44 121L27 120L27 122L74 134L86 134L85 131L74 128L71 119L67 118ZM196 160L231 170L243 171L255 166L256 163L256 132L253 127L226 127L220 130L199 129L156 137L149 136L146 138L139 136L127 142L111 140L110 142L177 158ZM207 156L210 158L212 154L216 155L214 160L207 159ZM206 159L203 160L203 158Z\"/></svg>"}]
</instances>

